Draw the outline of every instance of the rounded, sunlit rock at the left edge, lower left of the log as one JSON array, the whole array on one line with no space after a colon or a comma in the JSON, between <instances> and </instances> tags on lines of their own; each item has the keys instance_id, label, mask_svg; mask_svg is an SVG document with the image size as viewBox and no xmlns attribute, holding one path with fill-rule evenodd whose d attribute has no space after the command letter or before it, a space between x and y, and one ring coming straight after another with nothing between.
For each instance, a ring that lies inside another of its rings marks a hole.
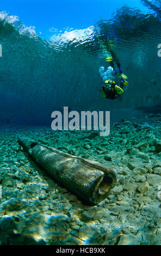
<instances>
[{"instance_id":1,"label":"rounded, sunlit rock at the left edge, lower left of the log","mask_svg":"<svg viewBox=\"0 0 161 256\"><path fill-rule=\"evenodd\" d=\"M18 211L18 210L23 209L23 207L24 207L23 202L17 198L10 198L9 200L3 202L0 205L0 209L5 212Z\"/></svg>"}]
</instances>

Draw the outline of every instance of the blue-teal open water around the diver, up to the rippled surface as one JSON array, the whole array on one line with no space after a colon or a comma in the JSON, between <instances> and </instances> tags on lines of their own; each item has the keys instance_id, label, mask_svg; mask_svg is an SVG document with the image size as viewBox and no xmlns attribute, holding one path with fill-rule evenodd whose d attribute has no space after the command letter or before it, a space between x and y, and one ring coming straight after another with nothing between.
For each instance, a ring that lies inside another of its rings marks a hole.
<instances>
[{"instance_id":1,"label":"blue-teal open water around the diver, up to the rippled surface","mask_svg":"<svg viewBox=\"0 0 161 256\"><path fill-rule=\"evenodd\" d=\"M111 120L160 112L160 1L142 1L141 13L127 6L113 19L99 20L82 37L42 40L20 21L0 21L1 123L51 125L51 113L64 106L75 111L111 111ZM70 36L70 34L69 34ZM113 40L129 86L121 100L106 100L97 91L98 70L109 65L99 38Z\"/></svg>"}]
</instances>

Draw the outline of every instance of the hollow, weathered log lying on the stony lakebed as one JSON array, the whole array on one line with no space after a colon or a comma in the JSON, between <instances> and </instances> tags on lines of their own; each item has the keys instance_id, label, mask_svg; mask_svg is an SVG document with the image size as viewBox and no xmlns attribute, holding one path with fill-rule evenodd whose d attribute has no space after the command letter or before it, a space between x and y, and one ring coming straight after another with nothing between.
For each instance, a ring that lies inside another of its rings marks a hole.
<instances>
[{"instance_id":1,"label":"hollow, weathered log lying on the stony lakebed","mask_svg":"<svg viewBox=\"0 0 161 256\"><path fill-rule=\"evenodd\" d=\"M46 172L92 204L106 198L116 184L117 173L112 167L64 153L26 137L18 137L18 141Z\"/></svg>"}]
</instances>

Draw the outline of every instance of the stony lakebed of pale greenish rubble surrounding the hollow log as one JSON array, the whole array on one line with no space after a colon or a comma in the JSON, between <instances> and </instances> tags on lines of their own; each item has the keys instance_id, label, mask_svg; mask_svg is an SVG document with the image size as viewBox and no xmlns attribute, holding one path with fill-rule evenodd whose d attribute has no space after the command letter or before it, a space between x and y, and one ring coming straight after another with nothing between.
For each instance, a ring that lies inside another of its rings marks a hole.
<instances>
[{"instance_id":1,"label":"stony lakebed of pale greenish rubble surrounding the hollow log","mask_svg":"<svg viewBox=\"0 0 161 256\"><path fill-rule=\"evenodd\" d=\"M110 135L1 125L1 245L161 245L161 115L122 120ZM17 136L116 169L109 196L88 205L40 169Z\"/></svg>"}]
</instances>

